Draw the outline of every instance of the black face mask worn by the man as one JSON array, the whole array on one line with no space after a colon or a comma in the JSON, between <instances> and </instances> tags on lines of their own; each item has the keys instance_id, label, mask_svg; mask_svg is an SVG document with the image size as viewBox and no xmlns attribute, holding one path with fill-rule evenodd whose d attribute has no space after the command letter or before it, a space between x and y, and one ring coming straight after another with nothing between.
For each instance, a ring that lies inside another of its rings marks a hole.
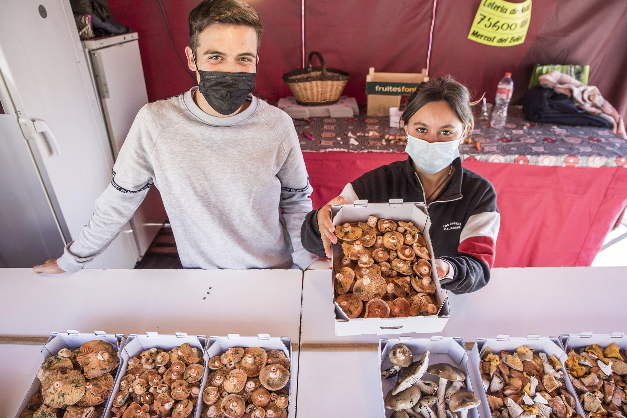
<instances>
[{"instance_id":1,"label":"black face mask worn by the man","mask_svg":"<svg viewBox=\"0 0 627 418\"><path fill-rule=\"evenodd\" d=\"M196 61L196 57L194 57ZM202 71L198 89L204 99L220 115L231 115L244 104L248 93L255 91L256 73L225 73L223 71Z\"/></svg>"}]
</instances>

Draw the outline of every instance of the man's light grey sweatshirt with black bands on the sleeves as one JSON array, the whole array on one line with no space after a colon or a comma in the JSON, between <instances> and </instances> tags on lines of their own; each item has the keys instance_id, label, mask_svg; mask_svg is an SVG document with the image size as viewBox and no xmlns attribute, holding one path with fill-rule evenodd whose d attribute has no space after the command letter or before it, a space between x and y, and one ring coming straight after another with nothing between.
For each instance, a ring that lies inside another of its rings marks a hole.
<instances>
[{"instance_id":1,"label":"man's light grey sweatshirt with black bands on the sleeves","mask_svg":"<svg viewBox=\"0 0 627 418\"><path fill-rule=\"evenodd\" d=\"M312 188L292 118L253 96L238 115L211 116L192 99L196 89L137 113L111 184L59 267L76 272L102 253L152 185L186 268L305 269L317 260L300 243Z\"/></svg>"}]
</instances>

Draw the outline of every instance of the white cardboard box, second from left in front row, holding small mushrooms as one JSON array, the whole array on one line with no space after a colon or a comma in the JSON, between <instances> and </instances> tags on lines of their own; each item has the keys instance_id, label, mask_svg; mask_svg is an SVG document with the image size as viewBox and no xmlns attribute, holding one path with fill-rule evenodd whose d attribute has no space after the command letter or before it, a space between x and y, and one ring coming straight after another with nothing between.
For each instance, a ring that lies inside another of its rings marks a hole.
<instances>
[{"instance_id":1,"label":"white cardboard box, second from left in front row, holding small mushrooms","mask_svg":"<svg viewBox=\"0 0 627 418\"><path fill-rule=\"evenodd\" d=\"M113 403L113 399L120 392L120 380L122 377L126 375L127 364L129 364L129 359L134 356L139 356L142 351L151 349L152 347L157 347L163 350L171 350L174 347L180 347L183 343L189 343L192 347L196 347L204 353L204 345L206 343L206 337L204 335L187 335L184 332L177 332L174 335L159 335L157 332L147 332L146 334L130 334L129 338L126 339L124 348L120 351L120 373L115 378L115 382L113 383L113 390L111 390L111 396L109 397L109 402L107 405L107 409L105 409L103 418L110 418L113 416L111 412L111 404ZM204 354L204 375L203 379L201 379L201 387L204 384L204 381L207 379L207 355ZM202 392L201 392L202 395ZM202 405L203 400L199 399L199 404ZM192 413L189 415L190 417L198 417L200 415L200 411L202 407L199 409L198 404L192 410Z\"/></svg>"}]
</instances>

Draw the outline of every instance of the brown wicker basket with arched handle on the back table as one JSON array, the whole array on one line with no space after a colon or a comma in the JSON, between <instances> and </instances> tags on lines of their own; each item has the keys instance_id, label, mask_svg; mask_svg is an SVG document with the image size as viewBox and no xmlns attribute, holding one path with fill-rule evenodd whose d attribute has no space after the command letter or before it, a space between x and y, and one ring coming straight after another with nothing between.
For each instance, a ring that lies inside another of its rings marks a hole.
<instances>
[{"instance_id":1,"label":"brown wicker basket with arched handle on the back table","mask_svg":"<svg viewBox=\"0 0 627 418\"><path fill-rule=\"evenodd\" d=\"M314 55L320 60L321 67L312 67ZM283 74L283 81L290 86L298 105L321 106L337 103L349 73L341 69L327 68L319 52L312 51L307 59L307 68L299 68Z\"/></svg>"}]
</instances>

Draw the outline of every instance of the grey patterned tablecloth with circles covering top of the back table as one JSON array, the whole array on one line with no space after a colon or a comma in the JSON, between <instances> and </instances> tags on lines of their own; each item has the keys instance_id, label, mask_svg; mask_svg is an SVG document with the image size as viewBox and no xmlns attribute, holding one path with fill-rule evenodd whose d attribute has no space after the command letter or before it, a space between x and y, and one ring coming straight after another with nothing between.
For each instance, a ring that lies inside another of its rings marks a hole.
<instances>
[{"instance_id":1,"label":"grey patterned tablecloth with circles covering top of the back table","mask_svg":"<svg viewBox=\"0 0 627 418\"><path fill-rule=\"evenodd\" d=\"M313 118L295 120L294 125L303 152L402 153L406 144L404 138L396 139L402 131L390 128L387 117ZM475 120L472 138L475 143L461 146L461 160L590 168L627 166L627 140L593 126L530 122L522 106L510 106L502 129Z\"/></svg>"}]
</instances>

